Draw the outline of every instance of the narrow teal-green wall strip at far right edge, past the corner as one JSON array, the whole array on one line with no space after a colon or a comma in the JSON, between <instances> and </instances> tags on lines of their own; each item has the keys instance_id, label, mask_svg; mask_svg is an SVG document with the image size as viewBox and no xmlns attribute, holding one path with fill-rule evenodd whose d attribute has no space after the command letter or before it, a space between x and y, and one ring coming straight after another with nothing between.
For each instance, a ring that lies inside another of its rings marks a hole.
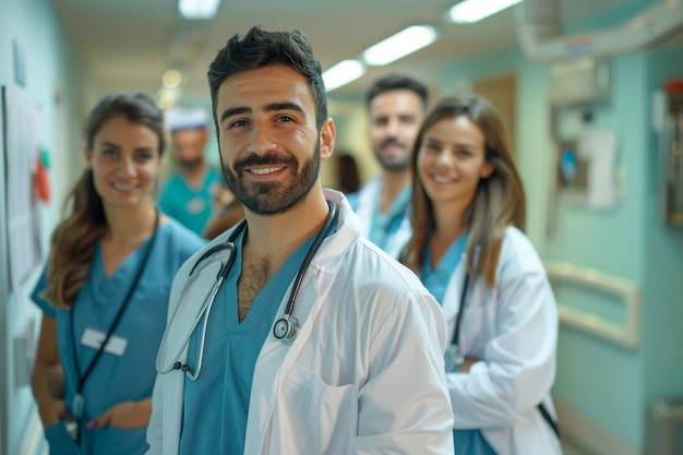
<instances>
[{"instance_id":1,"label":"narrow teal-green wall strip at far right edge, past the corner","mask_svg":"<svg viewBox=\"0 0 683 455\"><path fill-rule=\"evenodd\" d=\"M648 96L651 96L663 88L664 81L683 79L683 46L651 52L647 63ZM683 277L683 226L662 223L660 143L652 129L647 131L643 333L647 340L645 400L649 405L656 397L683 397L683 297L679 287Z\"/></svg>"}]
</instances>

